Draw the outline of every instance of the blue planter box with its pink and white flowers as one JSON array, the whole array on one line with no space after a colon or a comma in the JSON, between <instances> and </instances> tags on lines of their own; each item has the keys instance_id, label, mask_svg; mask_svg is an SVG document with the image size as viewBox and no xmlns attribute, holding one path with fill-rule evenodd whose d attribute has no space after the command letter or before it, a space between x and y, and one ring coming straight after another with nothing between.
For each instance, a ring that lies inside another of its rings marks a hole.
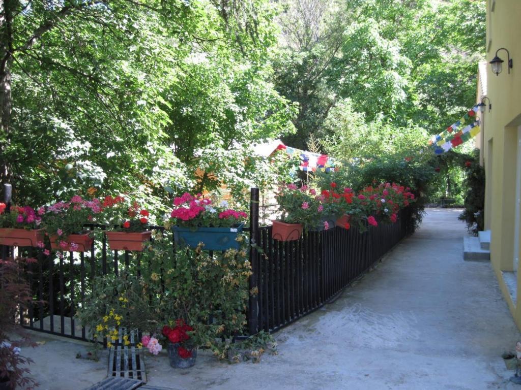
<instances>
[{"instance_id":1,"label":"blue planter box with its pink and white flowers","mask_svg":"<svg viewBox=\"0 0 521 390\"><path fill-rule=\"evenodd\" d=\"M237 236L242 232L247 214L229 208L227 201L219 204L204 199L201 194L188 192L173 200L170 213L172 231L177 243L196 248L204 243L204 250L226 251L238 249Z\"/></svg>"}]
</instances>

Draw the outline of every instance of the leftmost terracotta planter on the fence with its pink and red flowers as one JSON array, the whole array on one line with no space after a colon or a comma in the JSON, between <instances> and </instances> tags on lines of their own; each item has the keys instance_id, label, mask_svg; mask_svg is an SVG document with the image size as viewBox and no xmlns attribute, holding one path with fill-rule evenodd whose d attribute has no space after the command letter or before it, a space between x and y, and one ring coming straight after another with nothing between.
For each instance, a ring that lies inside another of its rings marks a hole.
<instances>
[{"instance_id":1,"label":"leftmost terracotta planter on the fence with its pink and red flowers","mask_svg":"<svg viewBox=\"0 0 521 390\"><path fill-rule=\"evenodd\" d=\"M6 212L5 203L0 203L0 245L38 246L43 242L42 217L29 206L12 206Z\"/></svg>"}]
</instances>

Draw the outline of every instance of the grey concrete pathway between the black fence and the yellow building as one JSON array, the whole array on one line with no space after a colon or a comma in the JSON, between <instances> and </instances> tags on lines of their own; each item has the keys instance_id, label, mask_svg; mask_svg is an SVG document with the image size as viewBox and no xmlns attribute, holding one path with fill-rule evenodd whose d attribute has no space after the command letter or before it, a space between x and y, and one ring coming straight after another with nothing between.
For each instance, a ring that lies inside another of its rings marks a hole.
<instances>
[{"instance_id":1,"label":"grey concrete pathway between the black fence and the yellow building","mask_svg":"<svg viewBox=\"0 0 521 390\"><path fill-rule=\"evenodd\" d=\"M508 383L513 371L501 359L519 333L490 264L463 261L467 232L460 212L428 209L415 235L362 281L276 333L279 355L230 365L202 353L189 370L147 355L148 384L180 390L521 388ZM49 340L27 351L41 388L82 389L104 378L106 358L74 359L82 348Z\"/></svg>"}]
</instances>

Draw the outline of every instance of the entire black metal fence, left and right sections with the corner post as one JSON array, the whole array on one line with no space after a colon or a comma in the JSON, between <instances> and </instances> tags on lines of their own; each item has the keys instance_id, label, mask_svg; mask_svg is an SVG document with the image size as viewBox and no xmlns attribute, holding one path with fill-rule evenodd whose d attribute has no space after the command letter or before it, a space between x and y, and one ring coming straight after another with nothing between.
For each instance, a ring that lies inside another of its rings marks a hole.
<instances>
[{"instance_id":1,"label":"entire black metal fence, left and right sections with the corner post","mask_svg":"<svg viewBox=\"0 0 521 390\"><path fill-rule=\"evenodd\" d=\"M250 248L250 288L257 294L251 295L247 313L250 334L276 331L321 307L413 232L410 212L402 210L395 224L368 227L363 233L353 225L350 230L336 227L305 232L297 241L280 242L271 238L271 226L259 226L258 218L258 190L252 189L251 226L246 232L255 244ZM90 330L79 324L76 311L91 291L94 278L129 268L140 274L139 256L110 251L103 226L86 227L94 231L88 252L46 256L42 249L0 245L2 259L15 255L33 258L24 270L33 302L20 313L22 326L91 340Z\"/></svg>"}]
</instances>

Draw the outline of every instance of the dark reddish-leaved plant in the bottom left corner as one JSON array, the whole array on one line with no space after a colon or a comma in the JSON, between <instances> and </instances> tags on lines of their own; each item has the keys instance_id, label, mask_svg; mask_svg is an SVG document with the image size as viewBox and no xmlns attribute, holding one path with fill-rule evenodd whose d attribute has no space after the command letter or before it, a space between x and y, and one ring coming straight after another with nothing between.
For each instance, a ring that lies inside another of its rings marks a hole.
<instances>
[{"instance_id":1,"label":"dark reddish-leaved plant in the bottom left corner","mask_svg":"<svg viewBox=\"0 0 521 390\"><path fill-rule=\"evenodd\" d=\"M21 343L29 343L16 317L20 310L26 310L31 301L29 284L21 279L20 262L24 259L0 259L0 389L32 388L36 382L27 377L28 363L33 361L20 355ZM22 339L13 340L15 334ZM29 343L35 346L33 343Z\"/></svg>"}]
</instances>

